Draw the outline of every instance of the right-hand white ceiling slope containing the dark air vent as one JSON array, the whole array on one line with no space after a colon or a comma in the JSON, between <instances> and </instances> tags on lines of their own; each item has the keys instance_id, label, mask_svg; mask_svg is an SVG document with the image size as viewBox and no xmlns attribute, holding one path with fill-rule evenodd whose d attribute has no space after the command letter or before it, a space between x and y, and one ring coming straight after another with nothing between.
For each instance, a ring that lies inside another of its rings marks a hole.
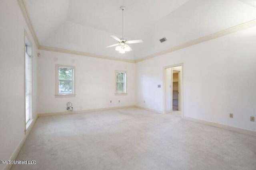
<instances>
[{"instance_id":1,"label":"right-hand white ceiling slope containing the dark air vent","mask_svg":"<svg viewBox=\"0 0 256 170\"><path fill-rule=\"evenodd\" d=\"M134 47L135 59L254 19L255 8L239 0L190 0L154 24L154 29L148 33L151 41L144 41L140 49ZM142 38L147 39L148 35ZM160 43L163 37L167 41Z\"/></svg>"}]
</instances>

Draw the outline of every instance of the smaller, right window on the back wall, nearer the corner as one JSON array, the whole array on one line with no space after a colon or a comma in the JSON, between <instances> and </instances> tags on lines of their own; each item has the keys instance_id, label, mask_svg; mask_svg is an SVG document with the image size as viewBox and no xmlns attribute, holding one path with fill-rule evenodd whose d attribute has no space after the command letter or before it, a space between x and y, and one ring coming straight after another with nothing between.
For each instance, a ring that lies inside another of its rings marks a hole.
<instances>
[{"instance_id":1,"label":"smaller, right window on the back wall, nearer the corner","mask_svg":"<svg viewBox=\"0 0 256 170\"><path fill-rule=\"evenodd\" d=\"M116 71L116 94L126 94L125 71Z\"/></svg>"}]
</instances>

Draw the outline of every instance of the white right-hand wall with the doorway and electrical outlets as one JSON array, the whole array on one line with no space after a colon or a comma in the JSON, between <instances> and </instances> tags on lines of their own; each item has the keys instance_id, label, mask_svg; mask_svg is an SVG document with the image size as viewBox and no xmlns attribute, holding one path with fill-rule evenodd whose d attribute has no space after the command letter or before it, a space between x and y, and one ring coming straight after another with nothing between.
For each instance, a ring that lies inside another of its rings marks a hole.
<instances>
[{"instance_id":1,"label":"white right-hand wall with the doorway and electrical outlets","mask_svg":"<svg viewBox=\"0 0 256 170\"><path fill-rule=\"evenodd\" d=\"M184 116L255 131L255 44L251 27L137 63L137 105L162 112L163 67L183 63Z\"/></svg>"}]
</instances>

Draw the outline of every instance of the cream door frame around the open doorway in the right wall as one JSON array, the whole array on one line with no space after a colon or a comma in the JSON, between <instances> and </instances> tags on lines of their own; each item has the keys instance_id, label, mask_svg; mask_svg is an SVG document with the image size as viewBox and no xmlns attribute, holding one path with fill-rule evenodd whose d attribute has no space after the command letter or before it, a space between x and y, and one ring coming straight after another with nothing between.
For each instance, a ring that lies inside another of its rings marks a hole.
<instances>
[{"instance_id":1,"label":"cream door frame around the open doorway in the right wall","mask_svg":"<svg viewBox=\"0 0 256 170\"><path fill-rule=\"evenodd\" d=\"M184 100L183 100L183 96L184 96L184 92L183 92L183 72L184 72L184 66L183 66L183 63L180 63L180 64L174 64L174 65L169 65L169 66L164 66L163 67L163 114L166 114L166 83L167 83L167 80L166 80L166 69L168 68L173 68L173 67L177 67L177 66L182 66L182 70L179 70L180 71L180 76L179 76L179 79L180 79L180 100L179 100L179 111L181 112L181 115L182 115L182 118L184 117ZM171 80L172 81L172 80ZM172 86L171 86L172 88ZM172 98L172 95L171 95L171 98ZM172 99L171 99L171 102L172 102ZM171 108L172 108L172 104L171 104ZM172 109L171 109L171 112L172 112Z\"/></svg>"}]
</instances>

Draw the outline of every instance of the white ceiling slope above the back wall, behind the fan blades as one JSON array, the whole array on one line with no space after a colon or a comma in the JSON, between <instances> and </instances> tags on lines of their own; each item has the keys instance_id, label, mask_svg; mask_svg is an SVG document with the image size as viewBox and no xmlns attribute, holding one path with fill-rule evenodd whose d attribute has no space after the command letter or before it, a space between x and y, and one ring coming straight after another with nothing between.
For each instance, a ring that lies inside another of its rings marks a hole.
<instances>
[{"instance_id":1,"label":"white ceiling slope above the back wall, behind the fan blades","mask_svg":"<svg viewBox=\"0 0 256 170\"><path fill-rule=\"evenodd\" d=\"M113 33L108 33L104 30L66 21L61 27L54 31L42 45L134 60L133 51L120 54L114 47L106 48L108 45L117 43L116 40L110 37L112 34ZM129 39L128 37L126 38ZM133 44L131 47L134 47Z\"/></svg>"}]
</instances>

